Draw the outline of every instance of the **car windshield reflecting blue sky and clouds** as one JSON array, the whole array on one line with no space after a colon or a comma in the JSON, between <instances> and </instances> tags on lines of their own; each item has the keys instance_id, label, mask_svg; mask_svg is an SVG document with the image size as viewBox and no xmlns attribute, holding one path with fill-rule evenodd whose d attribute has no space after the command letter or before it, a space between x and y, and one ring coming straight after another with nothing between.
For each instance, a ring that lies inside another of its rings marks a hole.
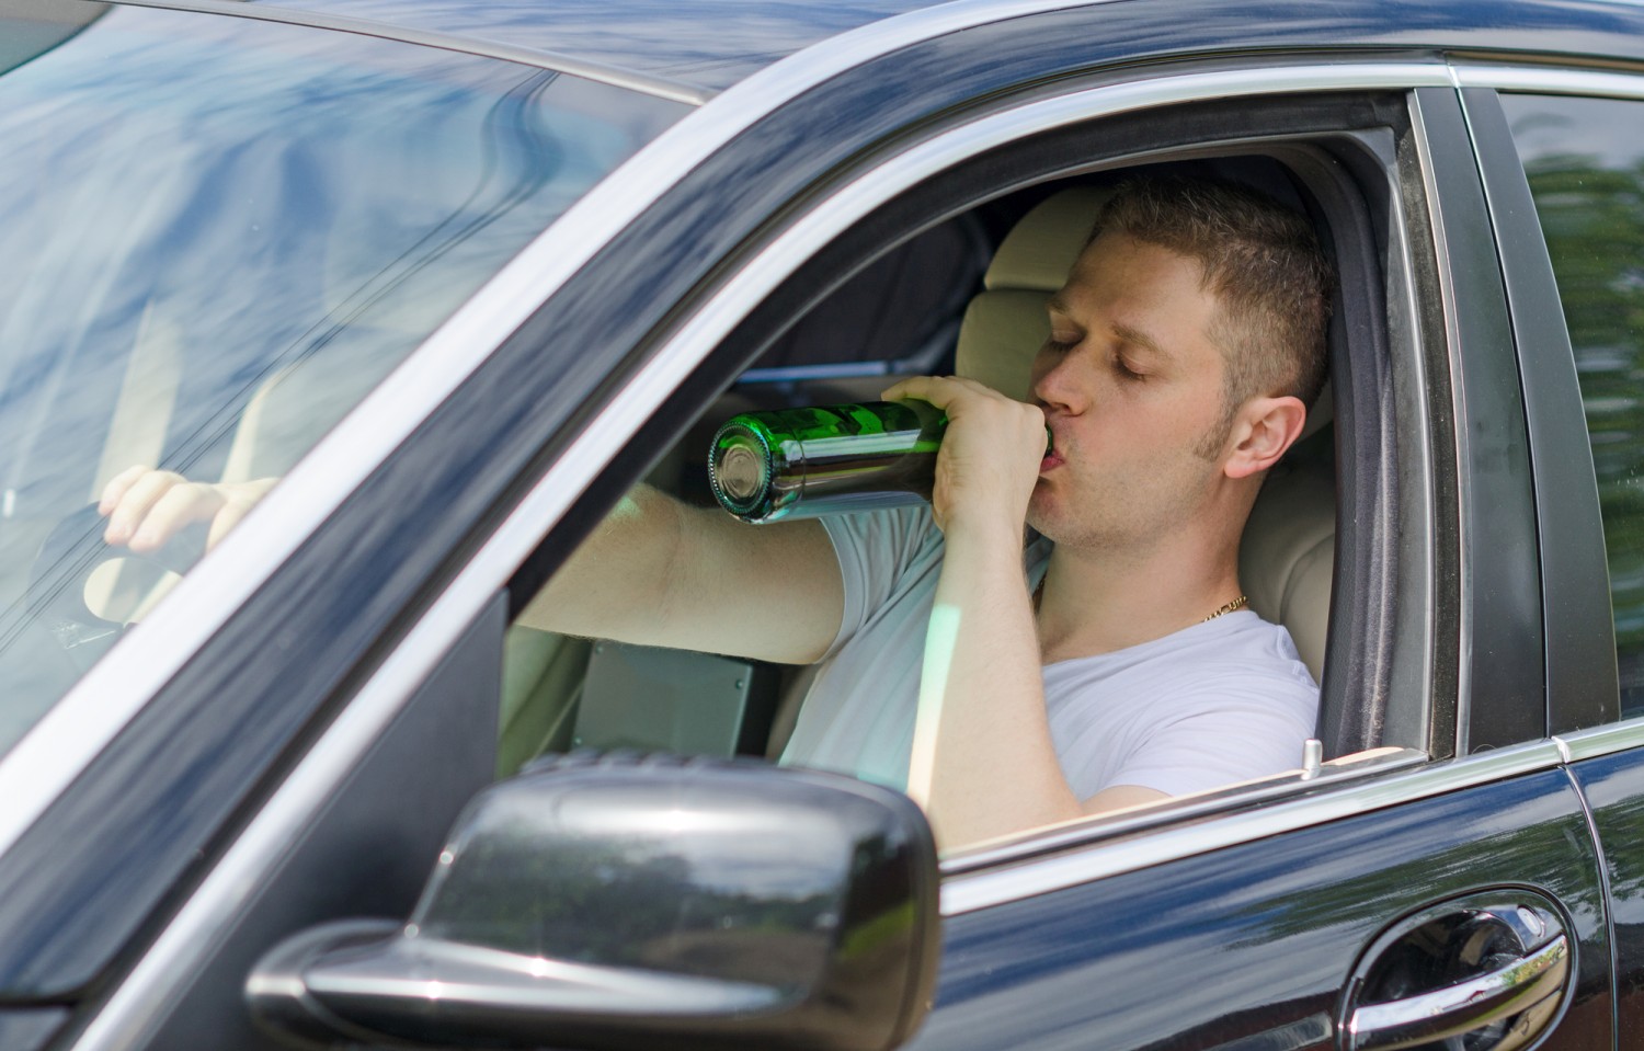
<instances>
[{"instance_id":1,"label":"car windshield reflecting blue sky and clouds","mask_svg":"<svg viewBox=\"0 0 1644 1051\"><path fill-rule=\"evenodd\" d=\"M204 551L118 558L110 482L273 485L682 113L344 33L0 0L0 753Z\"/></svg>"}]
</instances>

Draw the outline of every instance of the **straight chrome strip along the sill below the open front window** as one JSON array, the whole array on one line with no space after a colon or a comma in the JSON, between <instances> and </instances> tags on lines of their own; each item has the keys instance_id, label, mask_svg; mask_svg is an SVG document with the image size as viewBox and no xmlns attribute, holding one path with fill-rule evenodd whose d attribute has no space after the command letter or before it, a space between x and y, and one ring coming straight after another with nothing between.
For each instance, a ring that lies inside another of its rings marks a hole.
<instances>
[{"instance_id":1,"label":"straight chrome strip along the sill below the open front window","mask_svg":"<svg viewBox=\"0 0 1644 1051\"><path fill-rule=\"evenodd\" d=\"M1535 742L1373 778L1355 788L1268 804L1225 821L1161 829L1018 867L957 875L942 883L942 914L962 916L1123 872L1557 766L1559 750L1552 742Z\"/></svg>"}]
</instances>

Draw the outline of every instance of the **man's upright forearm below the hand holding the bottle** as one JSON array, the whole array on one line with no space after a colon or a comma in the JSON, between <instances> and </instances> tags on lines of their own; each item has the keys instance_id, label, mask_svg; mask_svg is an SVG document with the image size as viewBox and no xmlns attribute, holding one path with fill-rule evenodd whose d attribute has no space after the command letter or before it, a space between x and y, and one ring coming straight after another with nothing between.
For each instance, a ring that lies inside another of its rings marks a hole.
<instances>
[{"instance_id":1,"label":"man's upright forearm below the hand holding the bottle","mask_svg":"<svg viewBox=\"0 0 1644 1051\"><path fill-rule=\"evenodd\" d=\"M944 847L1082 813L1055 758L1039 660L1021 536L952 528L909 773Z\"/></svg>"}]
</instances>

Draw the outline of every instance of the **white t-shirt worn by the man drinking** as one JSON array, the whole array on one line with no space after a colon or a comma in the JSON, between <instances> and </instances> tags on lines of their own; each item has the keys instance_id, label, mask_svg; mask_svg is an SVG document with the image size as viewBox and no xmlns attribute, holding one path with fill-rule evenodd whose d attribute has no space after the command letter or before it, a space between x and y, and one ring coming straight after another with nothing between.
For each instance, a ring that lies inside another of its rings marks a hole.
<instances>
[{"instance_id":1,"label":"white t-shirt worn by the man drinking","mask_svg":"<svg viewBox=\"0 0 1644 1051\"><path fill-rule=\"evenodd\" d=\"M929 507L822 523L845 615L783 762L906 788L942 531ZM1037 538L1023 551L1031 587L1051 546ZM1248 610L1047 664L1044 692L1057 758L1080 799L1116 785L1179 796L1292 770L1318 711L1289 632Z\"/></svg>"}]
</instances>

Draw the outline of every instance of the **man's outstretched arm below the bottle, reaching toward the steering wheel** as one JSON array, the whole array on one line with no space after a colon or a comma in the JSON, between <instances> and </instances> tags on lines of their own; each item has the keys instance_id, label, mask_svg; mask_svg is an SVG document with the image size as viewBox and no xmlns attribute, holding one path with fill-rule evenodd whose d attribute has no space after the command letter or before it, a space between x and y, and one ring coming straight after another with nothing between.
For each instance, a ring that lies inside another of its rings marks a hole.
<instances>
[{"instance_id":1,"label":"man's outstretched arm below the bottle, reaching toward the steering wheel","mask_svg":"<svg viewBox=\"0 0 1644 1051\"><path fill-rule=\"evenodd\" d=\"M804 664L827 650L843 609L838 561L820 523L751 526L638 485L520 622Z\"/></svg>"}]
</instances>

